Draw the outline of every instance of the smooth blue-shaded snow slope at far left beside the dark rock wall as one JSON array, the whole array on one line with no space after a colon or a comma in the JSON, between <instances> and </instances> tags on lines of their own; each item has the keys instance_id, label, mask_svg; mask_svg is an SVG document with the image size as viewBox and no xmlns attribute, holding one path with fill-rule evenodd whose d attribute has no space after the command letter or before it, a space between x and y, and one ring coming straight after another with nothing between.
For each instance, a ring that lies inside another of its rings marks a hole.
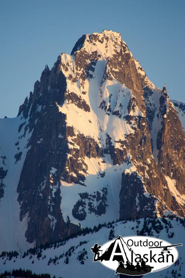
<instances>
[{"instance_id":1,"label":"smooth blue-shaded snow slope at far left beside the dark rock wall","mask_svg":"<svg viewBox=\"0 0 185 278\"><path fill-rule=\"evenodd\" d=\"M13 248L23 251L32 246L26 242L24 236L27 230L27 216L20 221L20 204L17 200L17 185L29 149L27 143L31 137L29 130L25 134L23 129L18 132L21 124L26 124L21 115L17 118L0 119L0 154L6 157L2 166L7 169L6 177L3 179L4 196L0 200L0 250ZM18 141L19 144L16 144Z\"/></svg>"}]
</instances>

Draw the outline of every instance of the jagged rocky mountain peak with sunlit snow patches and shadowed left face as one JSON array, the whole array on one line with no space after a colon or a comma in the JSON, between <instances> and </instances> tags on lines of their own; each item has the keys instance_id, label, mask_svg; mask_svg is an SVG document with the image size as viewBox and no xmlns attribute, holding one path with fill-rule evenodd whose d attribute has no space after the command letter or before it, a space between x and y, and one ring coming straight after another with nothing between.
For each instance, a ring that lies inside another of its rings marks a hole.
<instances>
[{"instance_id":1,"label":"jagged rocky mountain peak with sunlit snow patches and shadowed left face","mask_svg":"<svg viewBox=\"0 0 185 278\"><path fill-rule=\"evenodd\" d=\"M13 154L23 165L17 217L27 219L27 242L166 210L184 216L184 110L166 86L155 88L116 32L83 35L71 55L46 66L19 108ZM13 171L4 156L1 201Z\"/></svg>"}]
</instances>

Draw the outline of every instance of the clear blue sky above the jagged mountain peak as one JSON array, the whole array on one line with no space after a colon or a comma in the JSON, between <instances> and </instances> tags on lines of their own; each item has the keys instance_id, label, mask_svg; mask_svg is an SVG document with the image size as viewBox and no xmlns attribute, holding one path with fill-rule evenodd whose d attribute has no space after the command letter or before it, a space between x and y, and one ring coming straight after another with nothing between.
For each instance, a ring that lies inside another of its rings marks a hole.
<instances>
[{"instance_id":1,"label":"clear blue sky above the jagged mountain peak","mask_svg":"<svg viewBox=\"0 0 185 278\"><path fill-rule=\"evenodd\" d=\"M171 99L185 102L184 0L0 0L0 117L15 117L46 64L85 33L120 32Z\"/></svg>"}]
</instances>

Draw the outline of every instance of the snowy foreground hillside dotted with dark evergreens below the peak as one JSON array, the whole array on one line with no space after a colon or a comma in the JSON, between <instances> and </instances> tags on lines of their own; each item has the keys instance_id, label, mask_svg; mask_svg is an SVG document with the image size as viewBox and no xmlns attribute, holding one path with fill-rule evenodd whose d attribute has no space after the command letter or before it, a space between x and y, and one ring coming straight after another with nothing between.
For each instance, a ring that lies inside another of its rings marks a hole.
<instances>
[{"instance_id":1,"label":"snowy foreground hillside dotted with dark evergreens below the peak","mask_svg":"<svg viewBox=\"0 0 185 278\"><path fill-rule=\"evenodd\" d=\"M93 263L94 254L90 248L96 242L102 245L120 234L131 235L150 235L156 238L166 238L171 244L183 243L185 238L184 219L182 218L143 218L135 221L120 221L115 224L108 224L93 232L87 232L78 237L55 243L51 246L32 249L22 254L3 253L0 256L0 273L12 271L13 269L24 268L35 273L49 273L51 277L82 277L97 278L109 277L118 278L115 271L106 268L100 262ZM179 259L171 266L160 272L146 274L145 278L176 278L184 277L185 251L183 246L178 247ZM128 277L128 276L124 276ZM133 277L133 276L129 276ZM137 277L137 276L135 276Z\"/></svg>"}]
</instances>

